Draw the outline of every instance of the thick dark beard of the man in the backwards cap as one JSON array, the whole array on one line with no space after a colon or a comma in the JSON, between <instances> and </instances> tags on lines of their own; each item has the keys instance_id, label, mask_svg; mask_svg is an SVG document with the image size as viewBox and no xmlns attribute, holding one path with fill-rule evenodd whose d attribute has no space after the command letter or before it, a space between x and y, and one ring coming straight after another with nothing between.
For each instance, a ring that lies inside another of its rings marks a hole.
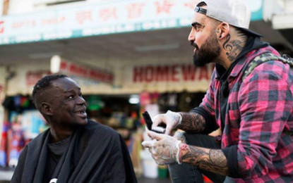
<instances>
[{"instance_id":1,"label":"thick dark beard of the man in the backwards cap","mask_svg":"<svg viewBox=\"0 0 293 183\"><path fill-rule=\"evenodd\" d=\"M213 34L207 39L205 43L201 46L201 49L196 46L196 53L193 55L193 64L198 67L203 67L208 63L215 61L217 56L220 56L220 45L217 42L216 34Z\"/></svg>"}]
</instances>

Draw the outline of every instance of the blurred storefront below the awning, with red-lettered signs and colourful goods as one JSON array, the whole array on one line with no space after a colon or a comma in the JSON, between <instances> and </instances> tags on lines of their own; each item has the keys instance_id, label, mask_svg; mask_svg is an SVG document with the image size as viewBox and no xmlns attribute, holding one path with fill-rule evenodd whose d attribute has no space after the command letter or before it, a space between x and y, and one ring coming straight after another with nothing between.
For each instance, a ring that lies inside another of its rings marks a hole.
<instances>
[{"instance_id":1,"label":"blurred storefront below the awning, with red-lettered signs and colourful goods","mask_svg":"<svg viewBox=\"0 0 293 183\"><path fill-rule=\"evenodd\" d=\"M208 87L213 65L195 68L184 61L108 65L116 69L88 67L62 59L59 72L71 76L80 85L88 102L88 117L113 127L124 137L136 171L141 174L138 151L143 120L140 114L145 110L152 116L167 110L189 111L198 105ZM0 163L13 167L23 146L47 129L29 94L37 80L51 71L49 63L39 63L14 66L11 72L15 74L8 80L3 103L8 120L4 122L6 143L2 146L5 151ZM160 170L166 175L166 168Z\"/></svg>"}]
</instances>

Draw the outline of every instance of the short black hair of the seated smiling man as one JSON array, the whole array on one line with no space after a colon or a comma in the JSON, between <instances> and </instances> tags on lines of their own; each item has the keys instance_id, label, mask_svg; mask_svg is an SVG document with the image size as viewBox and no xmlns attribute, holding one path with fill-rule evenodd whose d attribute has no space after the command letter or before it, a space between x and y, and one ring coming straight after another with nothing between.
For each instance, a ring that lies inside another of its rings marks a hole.
<instances>
[{"instance_id":1,"label":"short black hair of the seated smiling man","mask_svg":"<svg viewBox=\"0 0 293 183\"><path fill-rule=\"evenodd\" d=\"M42 77L34 86L32 90L32 100L35 102L35 96L38 92L48 89L52 85L52 81L58 80L59 78L68 77L66 75L47 75Z\"/></svg>"}]
</instances>

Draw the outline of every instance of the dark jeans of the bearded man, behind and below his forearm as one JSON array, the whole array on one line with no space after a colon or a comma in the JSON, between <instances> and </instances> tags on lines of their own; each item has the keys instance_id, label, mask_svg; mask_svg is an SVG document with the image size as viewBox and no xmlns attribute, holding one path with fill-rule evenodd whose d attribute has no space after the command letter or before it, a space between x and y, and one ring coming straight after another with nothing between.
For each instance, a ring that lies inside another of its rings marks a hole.
<instances>
[{"instance_id":1,"label":"dark jeans of the bearded man, behind and below his forearm","mask_svg":"<svg viewBox=\"0 0 293 183\"><path fill-rule=\"evenodd\" d=\"M215 137L211 137L205 134L187 134L184 133L186 144L193 146L205 147L208 149L220 149L220 142L215 140ZM225 176L216 175L213 172L200 170L196 166L182 163L168 165L170 176L173 183L189 183L189 182L201 182L203 183L203 175L208 177L213 182L224 182Z\"/></svg>"}]
</instances>

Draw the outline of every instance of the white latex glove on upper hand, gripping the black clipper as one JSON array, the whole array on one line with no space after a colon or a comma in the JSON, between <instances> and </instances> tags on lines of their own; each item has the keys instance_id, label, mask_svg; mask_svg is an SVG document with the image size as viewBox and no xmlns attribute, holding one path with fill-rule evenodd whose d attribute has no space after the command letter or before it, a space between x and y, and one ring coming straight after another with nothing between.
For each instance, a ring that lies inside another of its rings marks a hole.
<instances>
[{"instance_id":1,"label":"white latex glove on upper hand, gripping the black clipper","mask_svg":"<svg viewBox=\"0 0 293 183\"><path fill-rule=\"evenodd\" d=\"M160 125L160 123L166 124L165 134L171 134L171 131L181 124L182 116L179 113L173 111L167 111L165 114L155 115L152 119L153 125L152 129Z\"/></svg>"}]
</instances>

